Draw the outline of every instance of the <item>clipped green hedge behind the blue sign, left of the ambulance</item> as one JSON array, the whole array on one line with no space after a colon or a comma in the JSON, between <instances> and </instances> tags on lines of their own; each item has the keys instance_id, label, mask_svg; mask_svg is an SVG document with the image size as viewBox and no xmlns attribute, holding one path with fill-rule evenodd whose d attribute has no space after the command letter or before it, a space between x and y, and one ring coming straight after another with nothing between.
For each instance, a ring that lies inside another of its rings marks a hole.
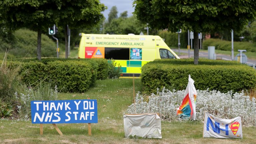
<instances>
[{"instance_id":1,"label":"clipped green hedge behind the blue sign, left of the ambulance","mask_svg":"<svg viewBox=\"0 0 256 144\"><path fill-rule=\"evenodd\" d=\"M9 65L19 67L23 84L36 86L42 80L51 80L62 92L84 92L96 79L108 77L106 59L16 59Z\"/></svg>"}]
</instances>

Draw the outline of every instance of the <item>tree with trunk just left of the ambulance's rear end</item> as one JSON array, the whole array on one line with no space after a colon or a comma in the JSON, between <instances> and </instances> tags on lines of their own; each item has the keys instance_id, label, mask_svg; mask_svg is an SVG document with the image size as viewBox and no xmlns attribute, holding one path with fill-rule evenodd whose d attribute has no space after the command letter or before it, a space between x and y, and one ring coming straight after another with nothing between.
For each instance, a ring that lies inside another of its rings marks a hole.
<instances>
[{"instance_id":1,"label":"tree with trunk just left of the ambulance's rear end","mask_svg":"<svg viewBox=\"0 0 256 144\"><path fill-rule=\"evenodd\" d=\"M70 29L95 26L104 18L101 12L106 7L99 0L63 0L59 2L58 8L58 24L65 27L65 58L68 58L67 25Z\"/></svg>"}]
</instances>

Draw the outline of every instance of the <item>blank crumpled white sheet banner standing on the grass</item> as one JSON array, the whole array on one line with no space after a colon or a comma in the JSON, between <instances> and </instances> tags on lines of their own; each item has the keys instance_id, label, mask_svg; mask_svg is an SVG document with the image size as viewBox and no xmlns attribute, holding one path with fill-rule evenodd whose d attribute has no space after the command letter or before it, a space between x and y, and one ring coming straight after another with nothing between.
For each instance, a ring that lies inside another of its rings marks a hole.
<instances>
[{"instance_id":1,"label":"blank crumpled white sheet banner standing on the grass","mask_svg":"<svg viewBox=\"0 0 256 144\"><path fill-rule=\"evenodd\" d=\"M162 138L161 118L157 114L126 114L123 117L125 137Z\"/></svg>"}]
</instances>

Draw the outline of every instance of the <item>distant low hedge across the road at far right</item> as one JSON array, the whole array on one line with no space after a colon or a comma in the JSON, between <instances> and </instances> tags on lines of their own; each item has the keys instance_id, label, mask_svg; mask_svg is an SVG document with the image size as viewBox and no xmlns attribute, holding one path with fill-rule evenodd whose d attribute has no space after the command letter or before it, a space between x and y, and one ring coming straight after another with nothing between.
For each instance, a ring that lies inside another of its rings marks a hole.
<instances>
[{"instance_id":1,"label":"distant low hedge across the road at far right","mask_svg":"<svg viewBox=\"0 0 256 144\"><path fill-rule=\"evenodd\" d=\"M215 46L217 50L231 51L231 41L220 39L207 39L203 42L203 49L208 49L208 46ZM256 52L256 43L251 42L234 42L234 51L239 49L247 50L247 52Z\"/></svg>"}]
</instances>

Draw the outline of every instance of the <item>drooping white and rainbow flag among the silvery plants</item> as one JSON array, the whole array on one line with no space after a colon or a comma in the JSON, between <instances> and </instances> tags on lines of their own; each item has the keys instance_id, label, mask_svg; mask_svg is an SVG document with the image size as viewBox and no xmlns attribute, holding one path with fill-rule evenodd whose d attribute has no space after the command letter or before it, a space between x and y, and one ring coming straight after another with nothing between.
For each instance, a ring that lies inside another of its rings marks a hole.
<instances>
[{"instance_id":1,"label":"drooping white and rainbow flag among the silvery plants","mask_svg":"<svg viewBox=\"0 0 256 144\"><path fill-rule=\"evenodd\" d=\"M197 92L194 86L194 80L188 75L188 85L185 91L185 96L179 108L177 115L180 118L190 118L196 120L196 97Z\"/></svg>"}]
</instances>

